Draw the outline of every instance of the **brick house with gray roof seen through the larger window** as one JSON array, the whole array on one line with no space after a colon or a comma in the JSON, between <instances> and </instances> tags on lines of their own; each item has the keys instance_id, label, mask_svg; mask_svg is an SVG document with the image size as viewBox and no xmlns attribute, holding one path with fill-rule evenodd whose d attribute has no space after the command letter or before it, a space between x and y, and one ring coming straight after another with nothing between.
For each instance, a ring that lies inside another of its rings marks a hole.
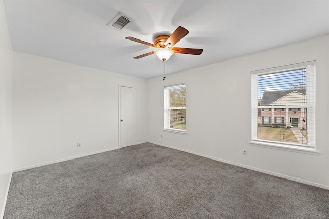
<instances>
[{"instance_id":1,"label":"brick house with gray roof seen through the larger window","mask_svg":"<svg viewBox=\"0 0 329 219\"><path fill-rule=\"evenodd\" d=\"M284 123L286 127L307 128L307 108L271 108L306 104L306 89L264 91L258 109L258 124Z\"/></svg>"}]
</instances>

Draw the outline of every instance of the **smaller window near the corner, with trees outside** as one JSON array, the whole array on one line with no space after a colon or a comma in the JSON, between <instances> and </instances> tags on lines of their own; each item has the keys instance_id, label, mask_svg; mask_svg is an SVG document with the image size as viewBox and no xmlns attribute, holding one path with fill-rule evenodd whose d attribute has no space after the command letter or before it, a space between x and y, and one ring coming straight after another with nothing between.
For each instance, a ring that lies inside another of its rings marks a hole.
<instances>
[{"instance_id":1,"label":"smaller window near the corner, with trees outside","mask_svg":"<svg viewBox=\"0 0 329 219\"><path fill-rule=\"evenodd\" d=\"M186 132L186 84L165 87L165 130Z\"/></svg>"}]
</instances>

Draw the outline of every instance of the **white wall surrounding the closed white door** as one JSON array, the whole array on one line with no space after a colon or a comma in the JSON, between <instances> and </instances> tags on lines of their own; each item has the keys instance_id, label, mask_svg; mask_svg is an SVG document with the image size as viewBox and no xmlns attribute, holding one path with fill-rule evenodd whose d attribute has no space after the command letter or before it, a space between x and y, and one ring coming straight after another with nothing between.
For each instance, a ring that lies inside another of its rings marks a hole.
<instances>
[{"instance_id":1,"label":"white wall surrounding the closed white door","mask_svg":"<svg viewBox=\"0 0 329 219\"><path fill-rule=\"evenodd\" d=\"M147 81L14 52L13 170L118 147L118 85L137 88L147 141ZM77 143L81 148L77 148Z\"/></svg>"}]
</instances>

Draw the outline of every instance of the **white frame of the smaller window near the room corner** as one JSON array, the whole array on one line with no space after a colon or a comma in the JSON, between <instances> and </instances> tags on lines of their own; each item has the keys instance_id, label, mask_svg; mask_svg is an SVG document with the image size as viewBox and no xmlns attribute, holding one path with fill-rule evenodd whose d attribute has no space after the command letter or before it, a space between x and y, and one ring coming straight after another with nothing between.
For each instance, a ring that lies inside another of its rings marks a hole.
<instances>
[{"instance_id":1,"label":"white frame of the smaller window near the room corner","mask_svg":"<svg viewBox=\"0 0 329 219\"><path fill-rule=\"evenodd\" d=\"M181 84L176 84L176 85L169 85L169 86L165 86L165 95L164 95L164 120L163 120L163 130L164 131L168 131L168 132L173 132L173 133L179 133L179 134L187 134L187 126L184 129L175 129L175 128L170 128L170 109L185 109L185 113L186 111L186 105L187 105L187 99L185 96L185 107L170 107L170 95L169 95L169 91L171 88L179 88L179 87L185 87L186 92L187 92L187 86L186 83L181 83ZM167 122L169 121L169 123Z\"/></svg>"}]
</instances>

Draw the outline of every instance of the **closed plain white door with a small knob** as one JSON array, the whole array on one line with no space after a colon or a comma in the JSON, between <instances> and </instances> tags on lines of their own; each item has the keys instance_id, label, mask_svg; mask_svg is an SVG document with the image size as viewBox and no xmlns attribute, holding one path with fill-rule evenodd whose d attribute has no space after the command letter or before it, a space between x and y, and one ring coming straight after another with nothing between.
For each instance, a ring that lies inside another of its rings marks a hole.
<instances>
[{"instance_id":1,"label":"closed plain white door with a small knob","mask_svg":"<svg viewBox=\"0 0 329 219\"><path fill-rule=\"evenodd\" d=\"M136 144L136 88L120 86L120 148Z\"/></svg>"}]
</instances>

